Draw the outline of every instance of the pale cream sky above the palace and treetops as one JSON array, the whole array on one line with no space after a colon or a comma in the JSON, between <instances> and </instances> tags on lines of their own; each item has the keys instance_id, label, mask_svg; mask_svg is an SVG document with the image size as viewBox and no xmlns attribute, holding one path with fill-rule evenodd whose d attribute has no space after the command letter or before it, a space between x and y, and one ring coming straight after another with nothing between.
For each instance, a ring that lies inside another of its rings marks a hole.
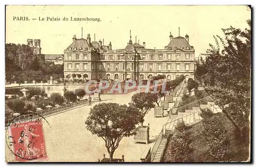
<instances>
[{"instance_id":1,"label":"pale cream sky above the palace and treetops","mask_svg":"<svg viewBox=\"0 0 256 167\"><path fill-rule=\"evenodd\" d=\"M20 16L29 20L17 20ZM60 20L46 21L47 17ZM101 21L72 21L71 17ZM131 30L133 43L137 36L147 49L161 50L169 43L170 32L179 36L180 27L180 36L189 35L197 57L215 43L214 35L223 37L222 28L245 29L250 18L247 6L7 6L6 43L40 39L42 54L63 54L74 34L77 38L91 34L94 41L95 33L96 41L104 38L104 45L111 41L115 50L125 48Z\"/></svg>"}]
</instances>

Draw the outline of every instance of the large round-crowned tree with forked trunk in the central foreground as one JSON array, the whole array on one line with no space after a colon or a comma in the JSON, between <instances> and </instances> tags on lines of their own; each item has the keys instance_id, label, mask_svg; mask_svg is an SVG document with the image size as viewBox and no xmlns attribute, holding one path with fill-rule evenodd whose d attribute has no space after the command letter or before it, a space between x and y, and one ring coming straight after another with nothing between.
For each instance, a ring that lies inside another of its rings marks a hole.
<instances>
[{"instance_id":1,"label":"large round-crowned tree with forked trunk in the central foreground","mask_svg":"<svg viewBox=\"0 0 256 167\"><path fill-rule=\"evenodd\" d=\"M115 150L123 137L134 135L136 124L140 121L139 110L134 106L117 103L100 103L95 105L87 117L86 128L101 137L113 159Z\"/></svg>"}]
</instances>

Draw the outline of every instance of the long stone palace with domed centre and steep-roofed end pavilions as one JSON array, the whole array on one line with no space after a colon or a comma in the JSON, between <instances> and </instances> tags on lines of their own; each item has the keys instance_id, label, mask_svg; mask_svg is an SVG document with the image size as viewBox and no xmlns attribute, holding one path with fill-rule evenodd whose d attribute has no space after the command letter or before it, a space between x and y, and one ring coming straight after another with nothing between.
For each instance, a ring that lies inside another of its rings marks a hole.
<instances>
[{"instance_id":1,"label":"long stone palace with domed centre and steep-roofed end pavilions","mask_svg":"<svg viewBox=\"0 0 256 167\"><path fill-rule=\"evenodd\" d=\"M84 80L147 80L164 75L166 80L174 80L184 75L194 79L194 47L189 44L189 36L173 37L163 50L146 49L143 44L129 43L124 49L112 50L111 42L77 39L74 35L71 45L64 50L64 76L66 79ZM94 38L95 39L95 38ZM80 74L80 75L79 75Z\"/></svg>"}]
</instances>

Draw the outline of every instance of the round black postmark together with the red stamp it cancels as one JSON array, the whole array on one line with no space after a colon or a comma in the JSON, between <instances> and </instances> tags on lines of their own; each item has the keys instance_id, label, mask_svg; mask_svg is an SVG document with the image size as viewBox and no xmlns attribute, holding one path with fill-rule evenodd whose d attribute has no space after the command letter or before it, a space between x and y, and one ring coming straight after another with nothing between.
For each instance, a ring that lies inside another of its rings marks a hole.
<instances>
[{"instance_id":1,"label":"round black postmark together with the red stamp it cancels","mask_svg":"<svg viewBox=\"0 0 256 167\"><path fill-rule=\"evenodd\" d=\"M16 161L47 159L43 123L45 117L34 112L15 116L7 125L6 144Z\"/></svg>"}]
</instances>

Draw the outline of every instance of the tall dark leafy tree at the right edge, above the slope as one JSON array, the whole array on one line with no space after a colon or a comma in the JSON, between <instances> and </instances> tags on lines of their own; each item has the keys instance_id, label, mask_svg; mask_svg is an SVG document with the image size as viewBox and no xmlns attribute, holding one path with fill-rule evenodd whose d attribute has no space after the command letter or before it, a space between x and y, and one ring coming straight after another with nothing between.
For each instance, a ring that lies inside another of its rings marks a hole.
<instances>
[{"instance_id":1,"label":"tall dark leafy tree at the right edge, above the slope","mask_svg":"<svg viewBox=\"0 0 256 167\"><path fill-rule=\"evenodd\" d=\"M251 84L251 21L249 29L222 29L225 39L214 36L216 45L204 56L207 70L205 90L218 105L241 137L249 124ZM221 45L221 46L220 46ZM222 49L221 49L222 48Z\"/></svg>"}]
</instances>

